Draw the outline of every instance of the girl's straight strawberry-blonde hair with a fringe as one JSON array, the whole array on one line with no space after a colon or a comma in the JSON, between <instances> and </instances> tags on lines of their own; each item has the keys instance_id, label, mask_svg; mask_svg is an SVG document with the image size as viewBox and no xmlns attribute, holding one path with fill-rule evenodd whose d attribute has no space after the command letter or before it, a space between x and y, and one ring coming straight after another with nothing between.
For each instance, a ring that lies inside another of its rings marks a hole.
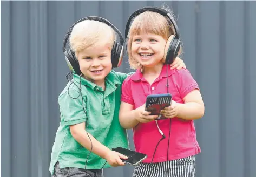
<instances>
[{"instance_id":1,"label":"girl's straight strawberry-blonde hair with a fringe","mask_svg":"<svg viewBox=\"0 0 256 177\"><path fill-rule=\"evenodd\" d=\"M170 12L169 9L163 9ZM162 16L156 12L146 11L135 17L132 25L130 25L128 39L126 40L128 60L130 68L132 69L138 69L142 67L140 63L138 63L137 60L132 57L132 52L130 51L132 48L133 36L140 35L142 33L153 33L155 35L160 35L167 40L170 35L175 35L175 30L172 23L167 21L167 17ZM180 55L181 50L182 49L180 47L178 56Z\"/></svg>"}]
</instances>

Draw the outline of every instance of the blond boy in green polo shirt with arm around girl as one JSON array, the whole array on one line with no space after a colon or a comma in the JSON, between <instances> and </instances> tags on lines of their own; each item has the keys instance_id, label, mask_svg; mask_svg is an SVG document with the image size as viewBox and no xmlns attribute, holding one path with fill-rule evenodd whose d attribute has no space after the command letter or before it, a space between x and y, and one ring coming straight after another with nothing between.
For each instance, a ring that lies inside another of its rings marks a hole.
<instances>
[{"instance_id":1,"label":"blond boy in green polo shirt with arm around girl","mask_svg":"<svg viewBox=\"0 0 256 177\"><path fill-rule=\"evenodd\" d=\"M127 159L111 151L129 148L119 123L121 86L128 75L111 70L115 40L113 28L96 20L84 20L72 29L69 43L81 75L73 73L58 97L61 122L52 148L52 176L99 177L102 168L123 166L122 159ZM176 64L184 66L179 58Z\"/></svg>"}]
</instances>

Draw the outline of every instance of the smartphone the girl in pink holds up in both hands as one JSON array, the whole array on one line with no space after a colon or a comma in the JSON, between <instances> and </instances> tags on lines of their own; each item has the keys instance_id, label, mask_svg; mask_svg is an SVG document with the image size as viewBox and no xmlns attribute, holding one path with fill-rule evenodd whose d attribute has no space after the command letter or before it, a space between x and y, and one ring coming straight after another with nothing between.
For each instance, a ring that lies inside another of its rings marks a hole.
<instances>
[{"instance_id":1,"label":"smartphone the girl in pink holds up in both hands","mask_svg":"<svg viewBox=\"0 0 256 177\"><path fill-rule=\"evenodd\" d=\"M149 94L146 100L146 111L150 111L151 115L160 115L160 111L163 108L170 106L170 102L172 101L172 94L164 93L164 94ZM157 119L166 119L161 116L161 118Z\"/></svg>"}]
</instances>

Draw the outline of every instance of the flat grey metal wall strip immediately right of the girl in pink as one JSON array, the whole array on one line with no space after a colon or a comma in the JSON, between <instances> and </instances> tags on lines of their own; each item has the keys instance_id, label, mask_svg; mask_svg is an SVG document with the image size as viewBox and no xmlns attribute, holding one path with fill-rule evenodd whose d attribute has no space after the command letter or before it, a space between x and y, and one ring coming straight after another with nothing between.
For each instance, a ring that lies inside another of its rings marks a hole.
<instances>
[{"instance_id":1,"label":"flat grey metal wall strip immediately right of the girl in pink","mask_svg":"<svg viewBox=\"0 0 256 177\"><path fill-rule=\"evenodd\" d=\"M195 31L196 49L194 50L196 53L195 77L205 103L205 116L196 121L197 138L202 149L202 153L197 159L199 176L215 176L220 171L220 109L216 106L219 104L219 100L216 98L220 94L218 72L220 65L218 47L220 44L219 6L220 2L218 1L204 1L195 5L195 25L197 26ZM185 45L187 47L193 46L193 42L191 45L187 45L187 43ZM212 161L211 165L208 164L209 159Z\"/></svg>"}]
</instances>

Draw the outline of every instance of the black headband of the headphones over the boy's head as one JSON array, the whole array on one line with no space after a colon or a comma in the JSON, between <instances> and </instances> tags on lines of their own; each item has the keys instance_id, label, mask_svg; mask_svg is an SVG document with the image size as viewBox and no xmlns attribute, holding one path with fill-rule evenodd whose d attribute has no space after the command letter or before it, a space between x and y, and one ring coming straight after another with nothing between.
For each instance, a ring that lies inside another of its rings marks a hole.
<instances>
[{"instance_id":1,"label":"black headband of the headphones over the boy's head","mask_svg":"<svg viewBox=\"0 0 256 177\"><path fill-rule=\"evenodd\" d=\"M121 32L119 31L119 29L117 29L113 24L111 24L107 19L105 18L101 18L101 17L96 17L96 16L90 16L90 17L85 17L85 18L82 18L80 20L78 20L76 23L74 23L70 29L68 30L67 34L65 35L65 38L64 38L64 42L63 42L63 46L62 46L62 50L63 52L67 51L67 49L65 48L67 42L68 42L68 37L72 31L72 29L74 28L74 26L79 23L79 22L82 22L82 21L85 21L85 20L92 20L92 21L99 21L99 22L102 22L104 24L107 24L108 26L110 26L112 29L115 30L115 32L117 33L117 35L119 36L120 38L120 44L123 45L124 43L124 39L122 37L122 34Z\"/></svg>"}]
</instances>

